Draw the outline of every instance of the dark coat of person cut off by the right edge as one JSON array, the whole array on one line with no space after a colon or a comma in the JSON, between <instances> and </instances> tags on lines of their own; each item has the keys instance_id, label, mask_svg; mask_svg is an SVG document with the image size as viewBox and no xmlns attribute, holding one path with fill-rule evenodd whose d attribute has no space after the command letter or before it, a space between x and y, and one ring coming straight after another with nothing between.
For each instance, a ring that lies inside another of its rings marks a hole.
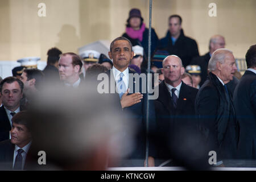
<instances>
[{"instance_id":1,"label":"dark coat of person cut off by the right edge","mask_svg":"<svg viewBox=\"0 0 256 182\"><path fill-rule=\"evenodd\" d=\"M256 74L245 71L234 91L234 107L240 125L238 158L256 159Z\"/></svg>"}]
</instances>

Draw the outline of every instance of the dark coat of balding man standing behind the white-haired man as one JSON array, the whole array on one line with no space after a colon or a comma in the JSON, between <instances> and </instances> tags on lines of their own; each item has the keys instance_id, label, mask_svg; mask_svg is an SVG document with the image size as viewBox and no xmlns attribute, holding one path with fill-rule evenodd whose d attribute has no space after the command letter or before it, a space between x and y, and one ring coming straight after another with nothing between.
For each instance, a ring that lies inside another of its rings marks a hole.
<instances>
[{"instance_id":1,"label":"dark coat of balding man standing behind the white-haired man","mask_svg":"<svg viewBox=\"0 0 256 182\"><path fill-rule=\"evenodd\" d=\"M207 80L207 76L208 76L208 63L210 60L210 52L207 52L204 56L198 56L198 57L194 57L191 61L191 64L195 64L195 65L199 65L201 68L201 82L200 82L200 86L202 86L204 84L204 82Z\"/></svg>"}]
</instances>

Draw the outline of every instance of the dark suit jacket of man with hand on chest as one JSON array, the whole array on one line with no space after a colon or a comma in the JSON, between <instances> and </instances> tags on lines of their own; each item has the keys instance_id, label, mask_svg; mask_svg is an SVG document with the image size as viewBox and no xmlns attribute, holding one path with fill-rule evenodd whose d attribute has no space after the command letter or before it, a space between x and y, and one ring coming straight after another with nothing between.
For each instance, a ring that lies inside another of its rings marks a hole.
<instances>
[{"instance_id":1,"label":"dark suit jacket of man with hand on chest","mask_svg":"<svg viewBox=\"0 0 256 182\"><path fill-rule=\"evenodd\" d=\"M109 81L110 81L110 74L113 74L112 69L106 72L107 75L109 76ZM129 69L129 73L135 74L135 72L131 71ZM114 78L114 76L113 76ZM112 80L115 83L115 80ZM147 97L146 93L142 92L142 80L140 79L139 81L139 90L135 90L136 84L138 82L135 81L135 79L130 80L129 79L129 85L133 84L133 92L128 93L127 95L133 94L135 92L141 92L143 94L143 98L141 102L132 105L130 107L125 107L123 110L121 108L120 103L120 98L118 93L115 94L115 99L118 104L120 105L119 111L123 114L126 114L127 119L129 119L137 128L137 132L135 134L135 147L133 152L131 153L130 156L127 158L129 159L145 159L146 156L146 112L147 112ZM110 86L109 86L110 89ZM110 90L109 90L110 93ZM153 133L155 130L155 109L154 109L154 101L149 100L149 135ZM149 152L150 156L153 156L155 154L155 151L153 151L153 147L150 146Z\"/></svg>"}]
</instances>

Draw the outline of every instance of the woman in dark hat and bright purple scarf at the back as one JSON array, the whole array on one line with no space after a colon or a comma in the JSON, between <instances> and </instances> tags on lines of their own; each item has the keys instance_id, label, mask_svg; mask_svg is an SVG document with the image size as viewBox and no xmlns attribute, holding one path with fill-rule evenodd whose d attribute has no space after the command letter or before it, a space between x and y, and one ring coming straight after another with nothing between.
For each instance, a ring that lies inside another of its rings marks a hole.
<instances>
[{"instance_id":1,"label":"woman in dark hat and bright purple scarf at the back","mask_svg":"<svg viewBox=\"0 0 256 182\"><path fill-rule=\"evenodd\" d=\"M129 18L127 19L126 32L122 35L129 39L133 46L142 46L144 48L145 56L148 55L148 28L143 23L141 10L131 9ZM153 55L156 45L158 43L158 36L154 28L151 29L151 56Z\"/></svg>"}]
</instances>

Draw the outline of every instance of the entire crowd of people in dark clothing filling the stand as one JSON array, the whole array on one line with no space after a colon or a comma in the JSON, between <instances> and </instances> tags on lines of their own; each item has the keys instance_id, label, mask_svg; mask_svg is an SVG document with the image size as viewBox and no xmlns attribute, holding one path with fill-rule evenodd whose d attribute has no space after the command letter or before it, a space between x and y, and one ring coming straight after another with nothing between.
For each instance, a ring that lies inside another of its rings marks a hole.
<instances>
[{"instance_id":1,"label":"entire crowd of people in dark clothing filling the stand","mask_svg":"<svg viewBox=\"0 0 256 182\"><path fill-rule=\"evenodd\" d=\"M256 45L240 79L223 36L212 36L209 52L199 56L181 17L168 22L163 39L152 29L150 72L139 9L130 11L109 58L51 48L43 71L14 68L0 83L0 169L97 170L146 155L148 166L172 159L172 166L207 169L210 151L218 165L255 159ZM150 74L158 79L152 85L143 79ZM144 92L150 87L155 100ZM39 151L46 152L46 165L39 164Z\"/></svg>"}]
</instances>

